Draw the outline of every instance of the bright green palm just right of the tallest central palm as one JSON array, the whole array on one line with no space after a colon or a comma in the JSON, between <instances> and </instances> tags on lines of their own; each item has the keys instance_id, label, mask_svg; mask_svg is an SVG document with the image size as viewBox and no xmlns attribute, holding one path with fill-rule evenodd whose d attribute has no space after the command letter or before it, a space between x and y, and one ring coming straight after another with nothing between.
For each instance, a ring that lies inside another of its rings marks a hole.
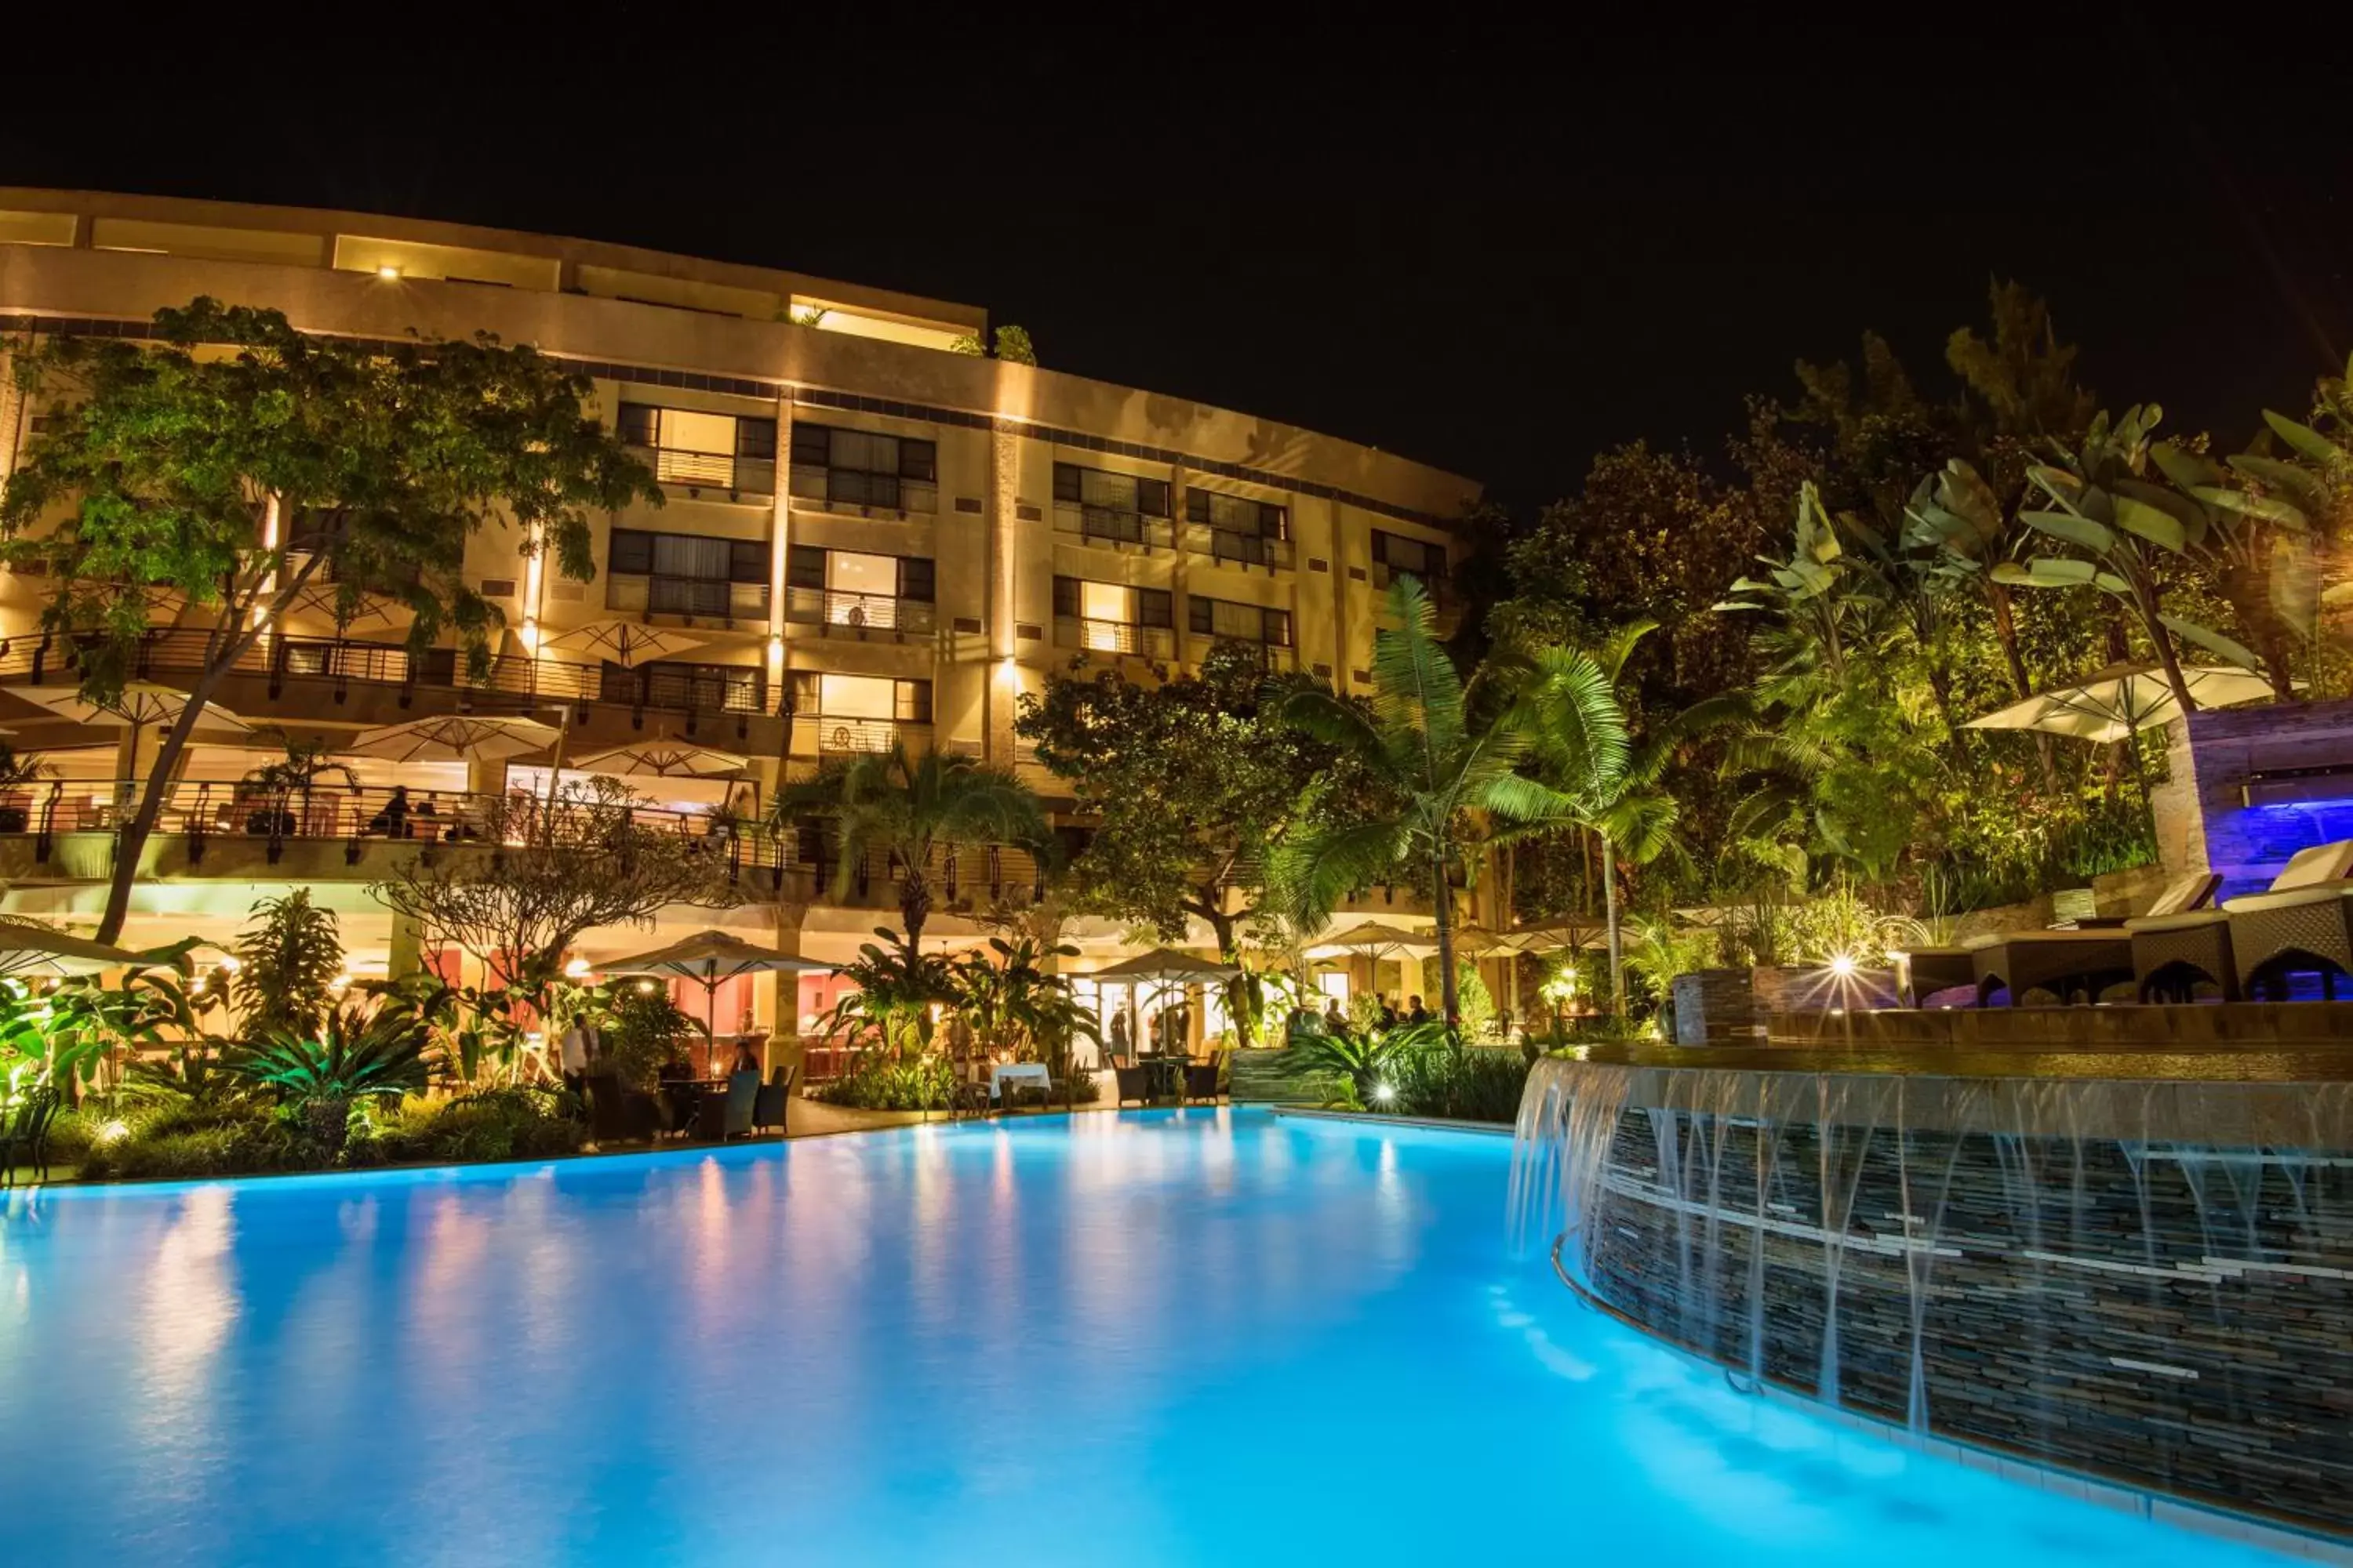
<instances>
[{"instance_id":1,"label":"bright green palm just right of the tallest central palm","mask_svg":"<svg viewBox=\"0 0 2353 1568\"><path fill-rule=\"evenodd\" d=\"M1619 922L1617 858L1638 865L1666 849L1675 827L1675 797L1649 788L1675 741L1706 715L1689 715L1635 748L1619 698L1619 677L1633 646L1659 630L1635 621L1600 649L1544 646L1525 656L1522 705L1539 776L1562 797L1562 816L1600 837L1602 910L1609 931L1609 1004L1626 1013L1626 940Z\"/></svg>"}]
</instances>

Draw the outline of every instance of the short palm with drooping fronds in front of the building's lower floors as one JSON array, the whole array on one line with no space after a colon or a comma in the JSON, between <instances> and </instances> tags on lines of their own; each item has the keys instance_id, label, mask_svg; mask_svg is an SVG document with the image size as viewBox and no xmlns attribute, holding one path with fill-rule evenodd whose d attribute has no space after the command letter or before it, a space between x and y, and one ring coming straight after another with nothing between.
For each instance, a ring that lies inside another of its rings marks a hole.
<instances>
[{"instance_id":1,"label":"short palm with drooping fronds in front of the building's lower floors","mask_svg":"<svg viewBox=\"0 0 2353 1568\"><path fill-rule=\"evenodd\" d=\"M889 856L899 872L899 919L911 950L922 940L922 922L932 914L934 853L1016 844L1045 856L1054 842L1038 792L1009 769L948 752L913 757L904 743L831 762L816 778L776 792L772 820L779 830L809 816L833 825L833 849L840 856L835 896L847 893L856 865L871 851Z\"/></svg>"}]
</instances>

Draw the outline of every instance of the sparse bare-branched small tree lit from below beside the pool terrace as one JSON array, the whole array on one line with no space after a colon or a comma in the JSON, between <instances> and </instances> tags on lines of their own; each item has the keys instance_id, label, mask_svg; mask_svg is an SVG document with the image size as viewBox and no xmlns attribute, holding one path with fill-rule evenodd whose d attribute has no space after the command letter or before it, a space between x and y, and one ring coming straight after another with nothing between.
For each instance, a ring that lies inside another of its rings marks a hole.
<instances>
[{"instance_id":1,"label":"sparse bare-branched small tree lit from below beside the pool terrace","mask_svg":"<svg viewBox=\"0 0 2353 1568\"><path fill-rule=\"evenodd\" d=\"M489 849L419 856L369 893L428 940L478 957L499 990L536 997L562 971L565 950L598 926L649 926L668 905L736 903L711 839L649 827L638 804L616 778L565 785L553 804L501 795L485 802Z\"/></svg>"}]
</instances>

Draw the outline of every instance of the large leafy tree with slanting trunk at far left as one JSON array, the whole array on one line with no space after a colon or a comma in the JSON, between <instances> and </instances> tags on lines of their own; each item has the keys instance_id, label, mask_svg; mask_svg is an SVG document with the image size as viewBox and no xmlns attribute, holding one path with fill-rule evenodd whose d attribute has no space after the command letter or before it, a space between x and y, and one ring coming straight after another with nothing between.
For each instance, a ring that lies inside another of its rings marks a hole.
<instances>
[{"instance_id":1,"label":"large leafy tree with slanting trunk at far left","mask_svg":"<svg viewBox=\"0 0 2353 1568\"><path fill-rule=\"evenodd\" d=\"M85 698L115 701L136 670L153 588L186 595L202 630L188 703L122 830L108 943L205 705L313 581L346 614L367 595L405 602L409 651L452 632L482 672L499 616L464 581L475 531L511 524L586 581L588 510L661 498L584 411L588 378L534 348L308 336L209 299L155 327L146 346L61 336L19 355L47 428L0 491L0 559L49 574L42 628Z\"/></svg>"}]
</instances>

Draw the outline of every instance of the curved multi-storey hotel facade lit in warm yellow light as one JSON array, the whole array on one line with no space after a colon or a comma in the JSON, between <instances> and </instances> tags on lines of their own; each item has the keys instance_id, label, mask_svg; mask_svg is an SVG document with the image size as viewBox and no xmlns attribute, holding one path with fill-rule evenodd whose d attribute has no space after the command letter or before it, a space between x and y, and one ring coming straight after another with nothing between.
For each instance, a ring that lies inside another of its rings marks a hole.
<instances>
[{"instance_id":1,"label":"curved multi-storey hotel facade lit in warm yellow light","mask_svg":"<svg viewBox=\"0 0 2353 1568\"><path fill-rule=\"evenodd\" d=\"M513 529L485 529L466 578L506 616L487 682L454 649L407 651L388 611L336 623L322 597L289 614L219 696L247 729L200 731L174 780L132 936L226 936L256 891L311 884L344 910L362 971L398 969L412 961L402 933L365 898L386 856L416 853L369 832L388 790L461 799L536 788L560 766L553 748L346 757L348 773L299 809L256 818L240 780L285 741L334 752L374 724L504 712L560 724L574 759L642 741L741 755L727 780L631 780L689 820L892 741L1024 769L1052 792L1012 719L1073 658L1186 665L1240 639L1273 668L1365 691L1381 590L1395 571L1442 590L1449 524L1478 494L1344 440L958 353L988 336L969 306L353 212L0 188L9 346L139 336L200 294L282 310L304 331L532 343L593 378L600 418L640 449L666 505L593 520L586 583ZM0 473L35 418L7 383ZM71 924L104 893L141 733L61 722L24 696L71 682L40 642L42 590L0 576L0 686L19 689L0 696L0 724L54 769L0 799L0 875L7 907ZM153 614L144 672L158 684L188 658L176 614ZM838 896L821 849L800 849L746 865L744 910L701 924L847 957L887 889ZM955 870L974 910L1033 875L1000 856ZM1118 952L1101 933L1092 945Z\"/></svg>"}]
</instances>

